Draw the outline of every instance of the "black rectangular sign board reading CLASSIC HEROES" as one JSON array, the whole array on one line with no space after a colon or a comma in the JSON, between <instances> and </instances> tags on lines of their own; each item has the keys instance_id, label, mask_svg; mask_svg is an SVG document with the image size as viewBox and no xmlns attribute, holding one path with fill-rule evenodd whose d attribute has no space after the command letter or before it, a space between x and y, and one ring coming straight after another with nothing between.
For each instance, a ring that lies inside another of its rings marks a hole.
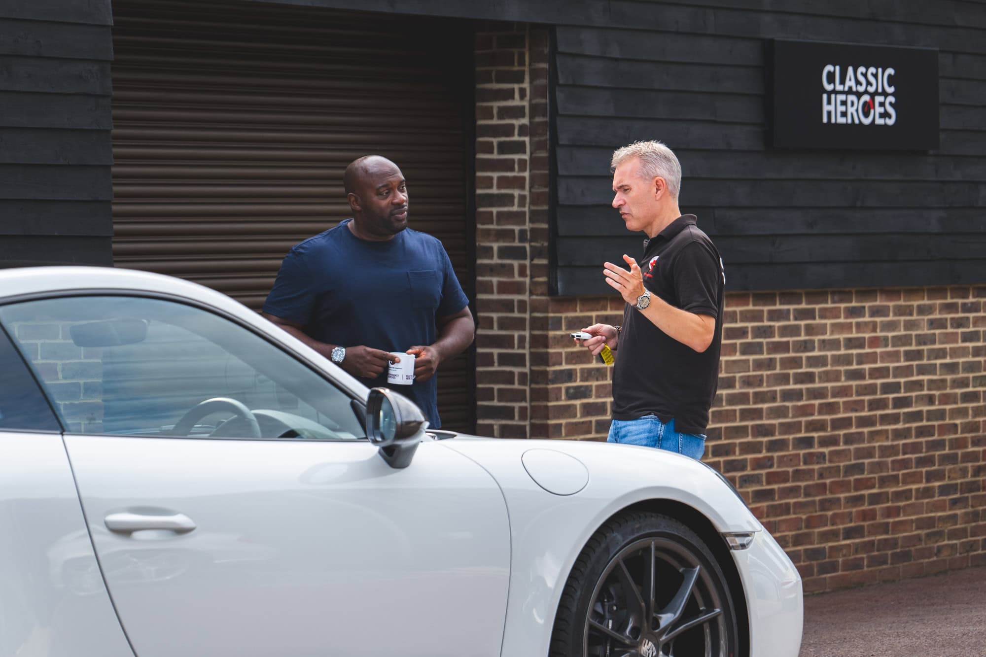
<instances>
[{"instance_id":1,"label":"black rectangular sign board reading CLASSIC HEROES","mask_svg":"<svg viewBox=\"0 0 986 657\"><path fill-rule=\"evenodd\" d=\"M938 148L938 50L774 39L775 148Z\"/></svg>"}]
</instances>

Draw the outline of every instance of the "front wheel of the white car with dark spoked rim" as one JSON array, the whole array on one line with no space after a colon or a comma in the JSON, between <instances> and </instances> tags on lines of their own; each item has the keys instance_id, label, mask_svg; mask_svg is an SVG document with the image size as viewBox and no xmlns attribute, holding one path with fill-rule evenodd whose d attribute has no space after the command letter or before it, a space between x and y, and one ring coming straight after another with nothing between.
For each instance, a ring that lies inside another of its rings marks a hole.
<instances>
[{"instance_id":1,"label":"front wheel of the white car with dark spoked rim","mask_svg":"<svg viewBox=\"0 0 986 657\"><path fill-rule=\"evenodd\" d=\"M729 585L705 543L673 518L603 525L562 592L551 657L733 657Z\"/></svg>"}]
</instances>

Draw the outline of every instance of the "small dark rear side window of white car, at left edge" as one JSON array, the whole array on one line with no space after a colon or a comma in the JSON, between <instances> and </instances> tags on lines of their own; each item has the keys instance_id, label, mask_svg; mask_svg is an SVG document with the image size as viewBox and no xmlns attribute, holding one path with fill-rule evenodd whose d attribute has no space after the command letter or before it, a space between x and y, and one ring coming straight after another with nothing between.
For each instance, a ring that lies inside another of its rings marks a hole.
<instances>
[{"instance_id":1,"label":"small dark rear side window of white car, at left edge","mask_svg":"<svg viewBox=\"0 0 986 657\"><path fill-rule=\"evenodd\" d=\"M0 330L0 431L55 431L61 426L21 355Z\"/></svg>"}]
</instances>

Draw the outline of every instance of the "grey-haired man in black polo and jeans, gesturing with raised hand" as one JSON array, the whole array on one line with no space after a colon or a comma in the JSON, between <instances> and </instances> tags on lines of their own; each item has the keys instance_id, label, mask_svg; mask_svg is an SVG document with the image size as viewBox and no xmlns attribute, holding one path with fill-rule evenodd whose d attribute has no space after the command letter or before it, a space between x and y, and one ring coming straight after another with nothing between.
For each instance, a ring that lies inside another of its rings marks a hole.
<instances>
[{"instance_id":1,"label":"grey-haired man in black polo and jeans, gesturing with raised hand","mask_svg":"<svg viewBox=\"0 0 986 657\"><path fill-rule=\"evenodd\" d=\"M618 149L611 161L612 206L628 230L643 231L639 265L604 263L623 297L621 327L585 328L593 355L616 354L609 442L644 445L701 459L719 381L726 277L722 258L695 216L678 209L681 166L658 141Z\"/></svg>"}]
</instances>

